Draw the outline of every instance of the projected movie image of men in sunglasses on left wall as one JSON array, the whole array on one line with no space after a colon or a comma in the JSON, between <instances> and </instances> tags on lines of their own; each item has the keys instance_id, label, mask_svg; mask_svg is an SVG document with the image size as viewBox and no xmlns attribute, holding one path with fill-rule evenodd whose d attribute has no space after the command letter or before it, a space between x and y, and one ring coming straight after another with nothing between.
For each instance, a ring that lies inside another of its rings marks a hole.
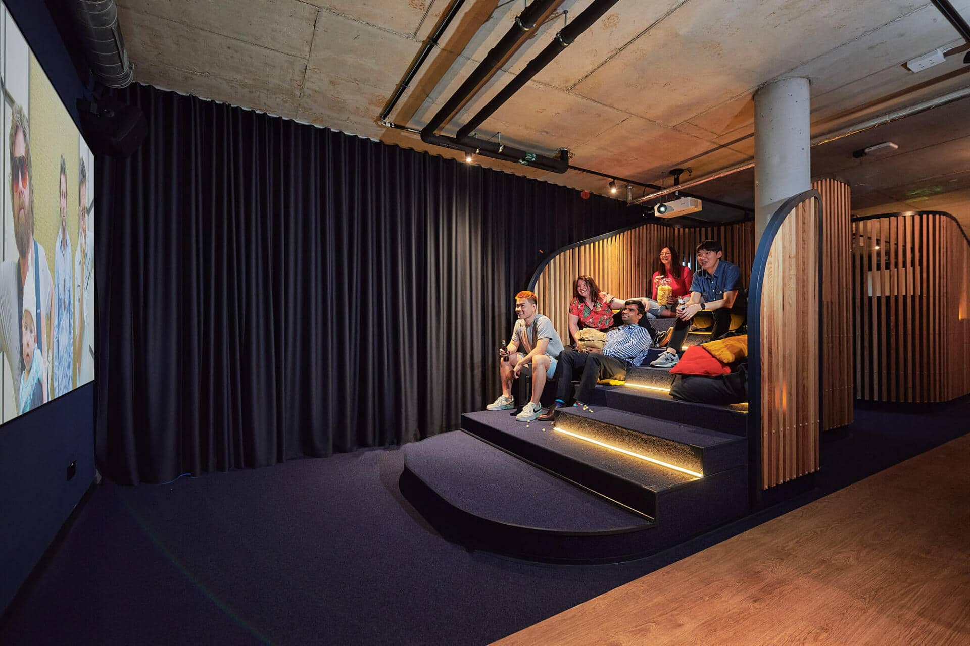
<instances>
[{"instance_id":1,"label":"projected movie image of men in sunglasses on left wall","mask_svg":"<svg viewBox=\"0 0 970 646\"><path fill-rule=\"evenodd\" d=\"M94 156L3 6L3 421L94 379Z\"/></svg>"}]
</instances>

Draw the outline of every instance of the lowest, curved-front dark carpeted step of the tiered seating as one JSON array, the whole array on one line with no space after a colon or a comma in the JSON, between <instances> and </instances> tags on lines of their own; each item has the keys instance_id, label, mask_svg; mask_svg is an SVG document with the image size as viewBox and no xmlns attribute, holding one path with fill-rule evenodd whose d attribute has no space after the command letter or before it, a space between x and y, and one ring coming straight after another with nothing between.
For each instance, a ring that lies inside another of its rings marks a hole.
<instances>
[{"instance_id":1,"label":"lowest, curved-front dark carpeted step of the tiered seating","mask_svg":"<svg viewBox=\"0 0 970 646\"><path fill-rule=\"evenodd\" d=\"M496 413L470 415L481 423L489 417L504 421ZM542 433L532 424L530 430ZM737 517L747 505L745 469L700 479L628 475L639 480L631 485L643 497L659 498L663 522L604 500L464 431L404 446L400 486L445 537L552 562L610 562L655 553ZM656 490L647 491L644 482Z\"/></svg>"}]
</instances>

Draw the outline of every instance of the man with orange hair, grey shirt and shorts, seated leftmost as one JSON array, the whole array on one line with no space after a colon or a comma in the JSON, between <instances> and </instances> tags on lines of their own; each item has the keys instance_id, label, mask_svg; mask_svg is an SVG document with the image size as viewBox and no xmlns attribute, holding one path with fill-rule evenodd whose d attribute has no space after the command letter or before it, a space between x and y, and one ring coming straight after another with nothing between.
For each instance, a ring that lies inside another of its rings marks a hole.
<instances>
[{"instance_id":1,"label":"man with orange hair, grey shirt and shorts, seated leftmost","mask_svg":"<svg viewBox=\"0 0 970 646\"><path fill-rule=\"evenodd\" d=\"M548 318L538 314L538 297L533 292L515 294L515 316L518 321L512 328L512 340L499 351L499 376L501 397L485 408L504 411L515 408L512 397L512 380L518 379L523 368L533 371L533 398L515 415L519 421L532 421L542 413L539 398L546 378L556 374L557 357L563 352L563 341ZM519 352L522 348L525 353Z\"/></svg>"}]
</instances>

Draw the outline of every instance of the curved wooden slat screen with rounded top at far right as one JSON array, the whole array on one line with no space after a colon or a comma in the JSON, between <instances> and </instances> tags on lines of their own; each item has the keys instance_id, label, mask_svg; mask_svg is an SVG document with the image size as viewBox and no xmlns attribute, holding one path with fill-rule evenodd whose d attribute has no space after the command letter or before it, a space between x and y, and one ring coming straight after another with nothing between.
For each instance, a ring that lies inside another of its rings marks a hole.
<instances>
[{"instance_id":1,"label":"curved wooden slat screen with rounded top at far right","mask_svg":"<svg viewBox=\"0 0 970 646\"><path fill-rule=\"evenodd\" d=\"M970 393L970 243L948 213L853 221L856 397Z\"/></svg>"}]
</instances>

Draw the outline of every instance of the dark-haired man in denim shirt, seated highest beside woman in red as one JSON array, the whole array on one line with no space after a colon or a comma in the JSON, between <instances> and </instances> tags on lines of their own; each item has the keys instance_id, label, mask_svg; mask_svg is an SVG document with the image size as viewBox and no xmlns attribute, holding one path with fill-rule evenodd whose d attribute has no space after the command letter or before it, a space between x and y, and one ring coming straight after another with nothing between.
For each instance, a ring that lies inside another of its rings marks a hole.
<instances>
[{"instance_id":1,"label":"dark-haired man in denim shirt, seated highest beside woman in red","mask_svg":"<svg viewBox=\"0 0 970 646\"><path fill-rule=\"evenodd\" d=\"M677 323L667 343L666 352L650 365L670 368L680 361L680 348L687 337L697 312L710 310L714 316L711 341L727 333L730 310L741 290L741 270L736 264L721 260L724 250L717 240L704 240L697 245L697 271L691 283L691 298L677 308Z\"/></svg>"}]
</instances>

